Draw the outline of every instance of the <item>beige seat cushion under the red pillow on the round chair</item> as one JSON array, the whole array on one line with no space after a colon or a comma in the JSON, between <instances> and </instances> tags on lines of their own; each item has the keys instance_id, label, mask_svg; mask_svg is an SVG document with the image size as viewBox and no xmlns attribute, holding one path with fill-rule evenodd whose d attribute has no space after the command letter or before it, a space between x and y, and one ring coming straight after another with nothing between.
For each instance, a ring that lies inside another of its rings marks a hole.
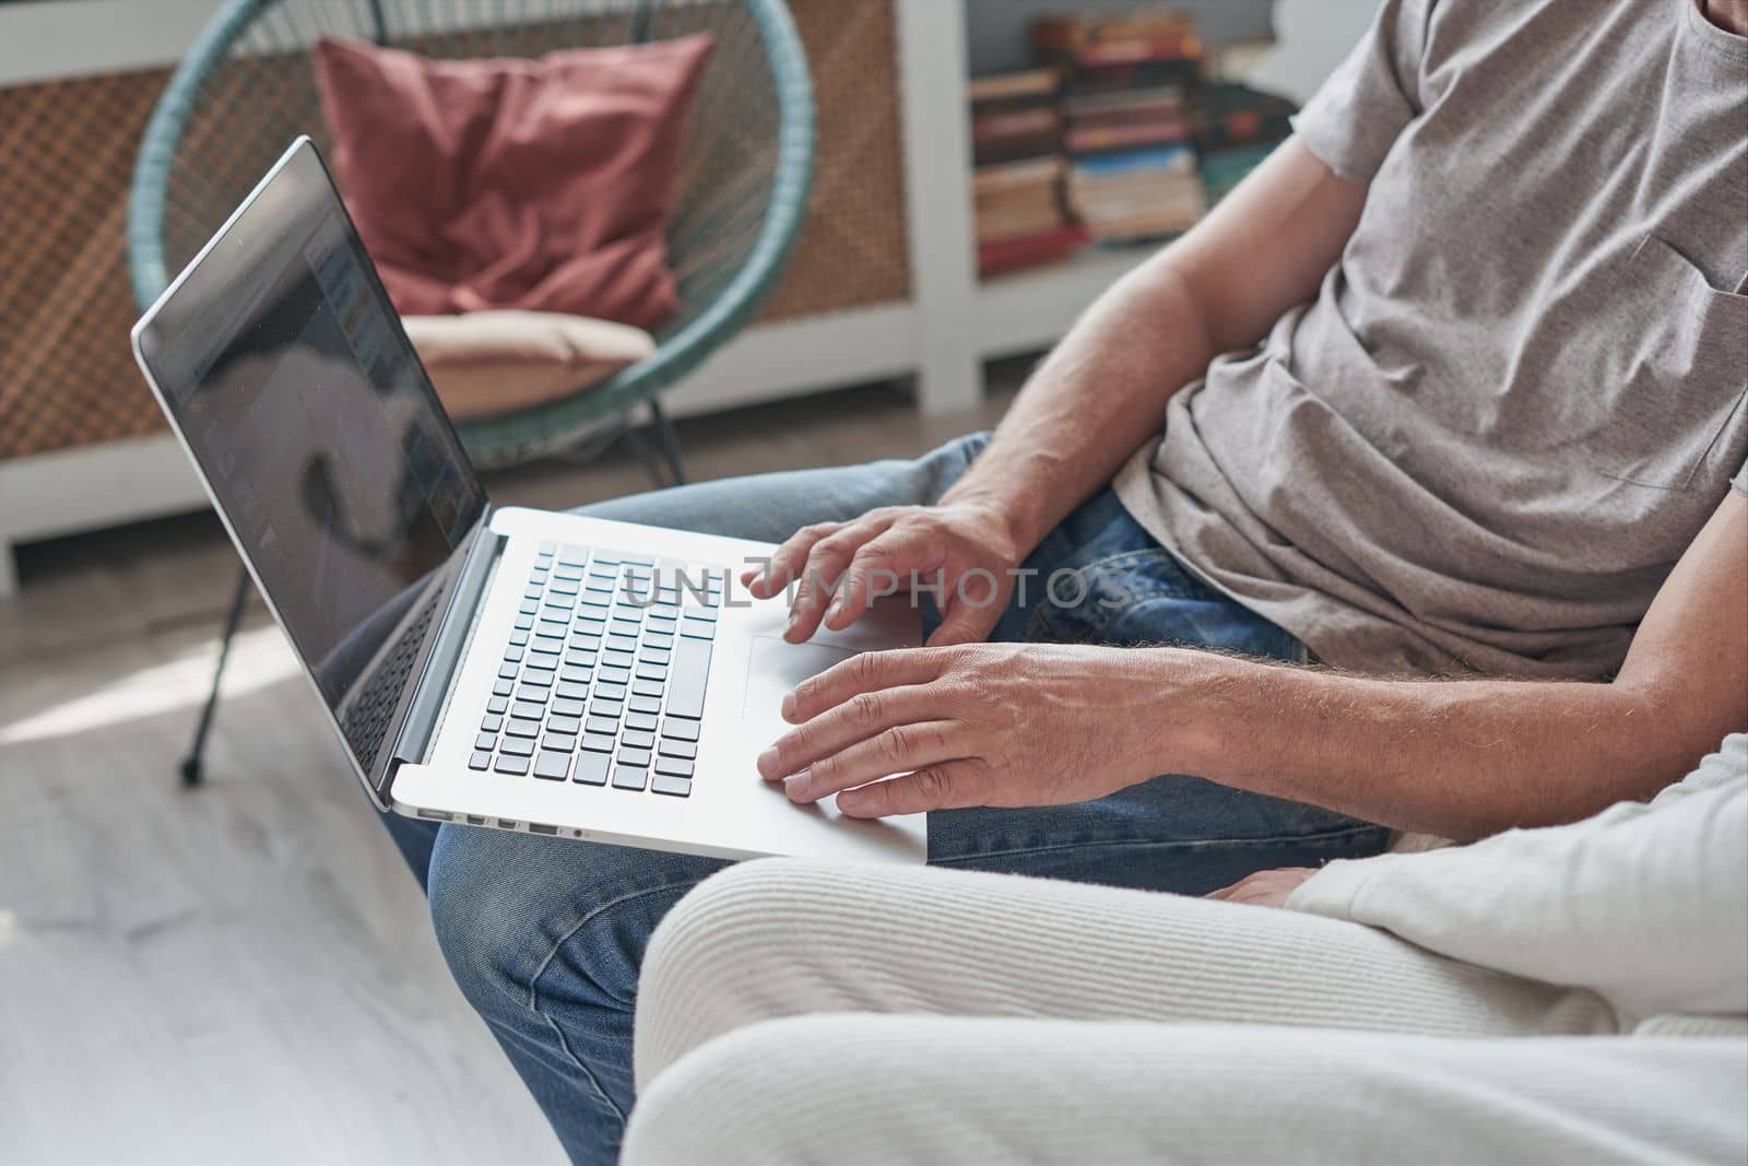
<instances>
[{"instance_id":1,"label":"beige seat cushion under the red pillow on the round chair","mask_svg":"<svg viewBox=\"0 0 1748 1166\"><path fill-rule=\"evenodd\" d=\"M643 329L554 311L402 316L456 421L570 397L656 351Z\"/></svg>"}]
</instances>

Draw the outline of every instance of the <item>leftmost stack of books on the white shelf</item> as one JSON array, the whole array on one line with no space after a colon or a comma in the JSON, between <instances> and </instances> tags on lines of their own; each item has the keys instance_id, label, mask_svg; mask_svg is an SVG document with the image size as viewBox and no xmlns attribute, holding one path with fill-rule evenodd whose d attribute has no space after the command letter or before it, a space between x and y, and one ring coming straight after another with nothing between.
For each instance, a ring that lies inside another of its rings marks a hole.
<instances>
[{"instance_id":1,"label":"leftmost stack of books on the white shelf","mask_svg":"<svg viewBox=\"0 0 1748 1166\"><path fill-rule=\"evenodd\" d=\"M1056 70L982 77L972 98L977 273L1065 259L1086 233L1063 212L1063 112Z\"/></svg>"}]
</instances>

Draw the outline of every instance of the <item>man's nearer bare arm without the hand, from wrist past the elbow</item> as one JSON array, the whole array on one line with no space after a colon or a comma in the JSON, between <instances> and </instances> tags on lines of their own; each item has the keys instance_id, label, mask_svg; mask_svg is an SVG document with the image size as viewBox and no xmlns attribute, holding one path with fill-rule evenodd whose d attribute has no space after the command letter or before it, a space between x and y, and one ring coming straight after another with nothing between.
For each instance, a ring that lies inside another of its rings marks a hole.
<instances>
[{"instance_id":1,"label":"man's nearer bare arm without the hand, from wrist past the elbow","mask_svg":"<svg viewBox=\"0 0 1748 1166\"><path fill-rule=\"evenodd\" d=\"M1608 684L1189 666L1190 773L1444 837L1573 822L1650 797L1748 729L1748 498L1711 516Z\"/></svg>"}]
</instances>

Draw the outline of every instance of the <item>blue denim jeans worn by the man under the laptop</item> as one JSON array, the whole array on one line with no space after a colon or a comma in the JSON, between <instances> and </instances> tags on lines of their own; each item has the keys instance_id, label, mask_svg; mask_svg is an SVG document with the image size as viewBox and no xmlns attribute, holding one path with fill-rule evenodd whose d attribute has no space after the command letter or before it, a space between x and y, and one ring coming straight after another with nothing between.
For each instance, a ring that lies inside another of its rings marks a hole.
<instances>
[{"instance_id":1,"label":"blue denim jeans worn by the man under the laptop","mask_svg":"<svg viewBox=\"0 0 1748 1166\"><path fill-rule=\"evenodd\" d=\"M621 498L587 512L780 542L808 523L933 502L984 435L916 462L769 474ZM1070 514L1026 566L1038 573L996 640L1187 643L1302 661L1274 624L1204 587L1110 491ZM1072 568L1086 579L1042 580ZM430 895L437 940L468 1002L528 1082L566 1152L608 1163L631 1110L638 965L662 914L724 864L661 851L390 816ZM953 809L928 816L932 864L1201 895L1252 871L1318 865L1384 848L1342 815L1162 776L1080 806Z\"/></svg>"}]
</instances>

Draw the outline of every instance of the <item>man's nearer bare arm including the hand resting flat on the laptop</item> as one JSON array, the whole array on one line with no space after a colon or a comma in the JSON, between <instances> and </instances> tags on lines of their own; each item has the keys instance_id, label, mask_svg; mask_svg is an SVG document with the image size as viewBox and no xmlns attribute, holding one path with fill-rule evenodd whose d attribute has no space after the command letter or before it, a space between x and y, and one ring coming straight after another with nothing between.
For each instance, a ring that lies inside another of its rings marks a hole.
<instances>
[{"instance_id":1,"label":"man's nearer bare arm including the hand resting flat on the laptop","mask_svg":"<svg viewBox=\"0 0 1748 1166\"><path fill-rule=\"evenodd\" d=\"M795 801L843 790L857 816L1079 802L1194 773L1458 839L1575 822L1650 797L1748 729L1748 498L1706 523L1606 684L989 643L858 656L783 715L795 729L760 773Z\"/></svg>"}]
</instances>

